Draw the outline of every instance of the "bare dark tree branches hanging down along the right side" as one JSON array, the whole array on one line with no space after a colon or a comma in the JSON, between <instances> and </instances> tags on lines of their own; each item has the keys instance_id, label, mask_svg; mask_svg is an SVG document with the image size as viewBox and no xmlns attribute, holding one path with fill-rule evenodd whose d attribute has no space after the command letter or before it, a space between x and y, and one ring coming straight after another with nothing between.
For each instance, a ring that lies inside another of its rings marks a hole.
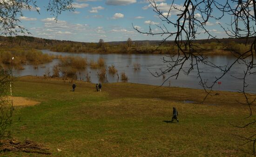
<instances>
[{"instance_id":1,"label":"bare dark tree branches hanging down along the right side","mask_svg":"<svg viewBox=\"0 0 256 157\"><path fill-rule=\"evenodd\" d=\"M183 3L183 5L177 5L174 3L174 0L172 0L171 4L166 5L168 10L166 7L163 8L161 4L158 4L156 0L148 0L148 2L150 3L148 7L153 8L154 12L164 24L155 25L160 30L159 32L153 31L153 23L149 25L148 32L142 32L136 27L134 27L134 29L139 33L147 35L161 35L163 37L162 44L172 38L177 47L175 55L163 58L163 62L167 64L167 68L164 70L160 69L160 71L152 74L155 77L161 77L170 73L169 77L165 79L165 81L167 81L173 77L177 79L181 72L189 74L192 70L196 70L199 83L207 93L205 97L207 98L212 95L212 89L218 81L225 75L228 75L228 72L234 68L236 64L243 65L245 66L243 77L233 77L243 81L243 90L240 92L243 93L245 98L243 104L248 105L250 109L248 118L251 117L251 107L255 105L256 95L247 93L248 84L246 83L246 79L249 75L256 74L256 63L254 62L256 54L256 0L179 1L179 3ZM249 49L243 52L230 51L230 53L236 57L236 60L231 64L216 65L206 56L203 56L201 51L198 51L198 49L202 49L202 47L195 44L195 39L204 33L207 34L208 39L216 39L223 47L228 47L225 43L221 43L218 37L207 28L210 20L222 20L227 16L229 16L230 19L229 24L224 25L218 22L218 25L229 37L246 39L244 44L249 45ZM253 41L249 42L249 39L253 39ZM160 44L160 46L162 44ZM186 65L189 65L189 67ZM203 71L200 65L209 66L221 72L221 75L214 76L213 81L207 81L203 78ZM175 69L178 70L175 71ZM256 120L245 124L243 127L254 124L256 124ZM253 154L255 154L256 134L250 137L244 137L244 139L246 144L251 143L253 145Z\"/></svg>"}]
</instances>

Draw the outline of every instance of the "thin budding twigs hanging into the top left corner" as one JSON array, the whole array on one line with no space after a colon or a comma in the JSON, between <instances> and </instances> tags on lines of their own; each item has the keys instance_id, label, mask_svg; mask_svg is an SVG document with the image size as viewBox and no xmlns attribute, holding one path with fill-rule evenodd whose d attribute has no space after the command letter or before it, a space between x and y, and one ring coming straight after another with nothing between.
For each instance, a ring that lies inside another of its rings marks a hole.
<instances>
[{"instance_id":1,"label":"thin budding twigs hanging into the top left corner","mask_svg":"<svg viewBox=\"0 0 256 157\"><path fill-rule=\"evenodd\" d=\"M63 11L74 10L72 2L73 0L48 0L48 5L45 7L57 21L58 16ZM23 17L24 9L36 10L40 13L36 0L0 0L1 34L29 33L25 27L20 25L20 17Z\"/></svg>"}]
</instances>

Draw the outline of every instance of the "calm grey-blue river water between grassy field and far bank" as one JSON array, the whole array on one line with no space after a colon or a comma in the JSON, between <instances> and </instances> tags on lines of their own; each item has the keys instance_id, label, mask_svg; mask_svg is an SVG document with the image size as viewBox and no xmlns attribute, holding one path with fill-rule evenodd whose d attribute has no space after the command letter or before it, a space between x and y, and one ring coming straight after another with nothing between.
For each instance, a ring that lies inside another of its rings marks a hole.
<instances>
[{"instance_id":1,"label":"calm grey-blue river water between grassy field and far bank","mask_svg":"<svg viewBox=\"0 0 256 157\"><path fill-rule=\"evenodd\" d=\"M118 70L119 76L121 72L125 72L128 76L128 82L131 83L139 83L139 84L147 84L147 85L162 85L164 79L163 77L156 78L152 76L152 73L159 71L159 69L165 69L167 67L166 63L162 62L162 58L166 56L160 54L92 54L92 53L68 53L68 52L51 52L49 50L41 50L43 53L47 53L50 55L61 55L61 56L79 56L82 58L87 58L88 62L90 60L97 61L99 58L105 59L106 66L115 65L115 68ZM230 65L236 58L233 56L207 56L209 61L212 63L222 66L222 65ZM256 61L256 60L255 60ZM38 69L34 69L33 65L23 65L24 70L14 70L15 76L26 76L26 75L34 75L34 76L43 76L47 69L52 70L54 65L59 63L58 59L54 59L52 62L38 65ZM134 70L134 64L140 64L140 70ZM188 65L185 65L185 67ZM175 69L174 72L177 72L178 69ZM243 77L243 72L245 67L243 65L236 64L234 67L225 75L221 80L220 85L215 85L214 90L221 91L233 91L237 92L243 89L243 80L236 79L235 77ZM216 76L220 76L222 73L209 66L201 65L200 71L202 71L202 78L205 81L211 83ZM99 69L91 69L89 66L85 69L78 70L77 75L78 79L85 80L85 75L88 73L91 77L91 81L93 83L98 83L99 79L97 76L97 72ZM172 72L172 74L174 74ZM178 76L178 79L171 78L166 81L164 86L177 86L177 87L188 87L188 88L196 88L202 89L202 86L199 85L199 79L197 70L192 70L189 75L186 75L184 72L181 72ZM168 78L170 74L166 74L165 79ZM246 77L246 82L248 87L246 88L246 92L256 93L256 75L249 75ZM107 72L107 80L108 82L120 82L117 75L112 75Z\"/></svg>"}]
</instances>

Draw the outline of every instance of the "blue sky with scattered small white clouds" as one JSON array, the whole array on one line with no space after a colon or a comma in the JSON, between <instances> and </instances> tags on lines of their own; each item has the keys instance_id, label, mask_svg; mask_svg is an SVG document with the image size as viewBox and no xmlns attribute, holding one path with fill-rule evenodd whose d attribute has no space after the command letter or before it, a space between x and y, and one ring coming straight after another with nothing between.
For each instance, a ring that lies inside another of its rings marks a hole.
<instances>
[{"instance_id":1,"label":"blue sky with scattered small white clouds","mask_svg":"<svg viewBox=\"0 0 256 157\"><path fill-rule=\"evenodd\" d=\"M105 42L109 42L126 41L128 38L132 40L162 40L164 37L138 33L132 24L142 32L149 31L149 24L154 33L161 32L156 25L163 26L163 24L170 32L175 31L175 28L157 16L148 0L74 0L75 10L62 12L57 22L44 7L47 6L48 1L38 0L36 2L40 14L33 7L31 11L24 10L23 16L19 17L20 25L32 33L30 36L81 42L98 42L99 39L104 39ZM166 14L171 0L155 1L163 14ZM182 7L181 2L181 0L175 0L174 4L177 7ZM175 21L176 14L175 11L171 12L169 19ZM201 18L202 15L195 13L195 16ZM218 25L218 23L224 22L225 19L222 21L210 19L206 27L218 38L224 38L227 35ZM202 31L197 39L206 38L208 36ZM173 38L169 38L169 40L173 40Z\"/></svg>"}]
</instances>

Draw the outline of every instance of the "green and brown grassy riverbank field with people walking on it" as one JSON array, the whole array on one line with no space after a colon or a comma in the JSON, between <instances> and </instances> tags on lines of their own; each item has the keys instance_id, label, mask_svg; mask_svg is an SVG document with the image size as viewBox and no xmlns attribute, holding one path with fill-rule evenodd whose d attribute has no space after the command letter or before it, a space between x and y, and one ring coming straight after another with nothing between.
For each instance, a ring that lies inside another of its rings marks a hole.
<instances>
[{"instance_id":1,"label":"green and brown grassy riverbank field with people walking on it","mask_svg":"<svg viewBox=\"0 0 256 157\"><path fill-rule=\"evenodd\" d=\"M243 150L252 149L251 144L239 146L243 141L235 135L249 136L256 126L231 125L256 118L245 119L249 108L237 103L243 101L239 93L218 92L202 104L202 90L111 83L96 92L94 84L75 83L70 92L72 84L61 79L18 78L13 95L40 104L15 106L12 136L43 144L59 157L249 156ZM173 106L180 123L170 123Z\"/></svg>"}]
</instances>

